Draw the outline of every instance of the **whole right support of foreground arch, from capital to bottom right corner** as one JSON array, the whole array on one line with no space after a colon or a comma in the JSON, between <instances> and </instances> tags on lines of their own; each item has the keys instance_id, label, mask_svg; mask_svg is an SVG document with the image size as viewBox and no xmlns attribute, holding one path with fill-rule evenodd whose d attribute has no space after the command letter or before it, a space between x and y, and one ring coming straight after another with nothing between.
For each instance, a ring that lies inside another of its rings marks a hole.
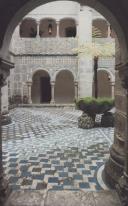
<instances>
[{"instance_id":1,"label":"whole right support of foreground arch, from capital to bottom right corner","mask_svg":"<svg viewBox=\"0 0 128 206\"><path fill-rule=\"evenodd\" d=\"M116 70L115 137L110 158L105 165L105 178L116 186L123 206L128 205L128 63Z\"/></svg>"}]
</instances>

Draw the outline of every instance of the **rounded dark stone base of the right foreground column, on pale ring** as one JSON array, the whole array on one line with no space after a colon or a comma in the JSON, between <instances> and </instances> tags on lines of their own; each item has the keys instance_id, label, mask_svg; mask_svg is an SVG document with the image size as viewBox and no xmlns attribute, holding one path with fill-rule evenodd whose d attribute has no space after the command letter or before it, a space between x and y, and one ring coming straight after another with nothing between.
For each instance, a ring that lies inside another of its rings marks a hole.
<instances>
[{"instance_id":1,"label":"rounded dark stone base of the right foreground column, on pale ring","mask_svg":"<svg viewBox=\"0 0 128 206\"><path fill-rule=\"evenodd\" d=\"M123 160L124 158L120 154L117 154L113 147L111 147L110 157L104 168L105 181L111 188L115 188L120 177L123 175Z\"/></svg>"}]
</instances>

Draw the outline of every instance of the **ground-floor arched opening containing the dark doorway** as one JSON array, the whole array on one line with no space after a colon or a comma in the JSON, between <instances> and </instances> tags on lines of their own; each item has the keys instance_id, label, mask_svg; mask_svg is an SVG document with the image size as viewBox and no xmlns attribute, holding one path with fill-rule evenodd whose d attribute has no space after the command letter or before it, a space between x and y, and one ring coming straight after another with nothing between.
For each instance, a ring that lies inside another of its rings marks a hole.
<instances>
[{"instance_id":1,"label":"ground-floor arched opening containing the dark doorway","mask_svg":"<svg viewBox=\"0 0 128 206\"><path fill-rule=\"evenodd\" d=\"M46 71L40 70L33 75L31 93L32 103L50 103L51 84L50 76Z\"/></svg>"}]
</instances>

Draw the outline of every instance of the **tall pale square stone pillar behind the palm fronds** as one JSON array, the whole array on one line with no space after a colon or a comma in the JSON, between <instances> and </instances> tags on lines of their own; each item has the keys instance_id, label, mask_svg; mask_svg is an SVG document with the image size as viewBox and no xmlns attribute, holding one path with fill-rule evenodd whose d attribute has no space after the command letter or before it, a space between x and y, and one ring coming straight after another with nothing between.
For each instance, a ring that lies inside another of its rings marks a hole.
<instances>
[{"instance_id":1,"label":"tall pale square stone pillar behind the palm fronds","mask_svg":"<svg viewBox=\"0 0 128 206\"><path fill-rule=\"evenodd\" d=\"M92 11L89 7L82 6L79 13L79 40L78 48L81 45L92 43ZM86 54L79 54L78 61L79 75L79 97L92 96L93 66L92 57Z\"/></svg>"}]
</instances>

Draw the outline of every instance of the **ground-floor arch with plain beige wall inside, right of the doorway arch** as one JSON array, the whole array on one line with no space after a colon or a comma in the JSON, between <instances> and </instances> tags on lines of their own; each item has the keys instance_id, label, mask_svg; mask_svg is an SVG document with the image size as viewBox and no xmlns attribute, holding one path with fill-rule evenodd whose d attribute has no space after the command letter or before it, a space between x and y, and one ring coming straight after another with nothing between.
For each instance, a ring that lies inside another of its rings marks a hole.
<instances>
[{"instance_id":1,"label":"ground-floor arch with plain beige wall inside, right of the doorway arch","mask_svg":"<svg viewBox=\"0 0 128 206\"><path fill-rule=\"evenodd\" d=\"M73 103L75 98L74 77L68 70L60 71L55 82L55 102Z\"/></svg>"}]
</instances>

